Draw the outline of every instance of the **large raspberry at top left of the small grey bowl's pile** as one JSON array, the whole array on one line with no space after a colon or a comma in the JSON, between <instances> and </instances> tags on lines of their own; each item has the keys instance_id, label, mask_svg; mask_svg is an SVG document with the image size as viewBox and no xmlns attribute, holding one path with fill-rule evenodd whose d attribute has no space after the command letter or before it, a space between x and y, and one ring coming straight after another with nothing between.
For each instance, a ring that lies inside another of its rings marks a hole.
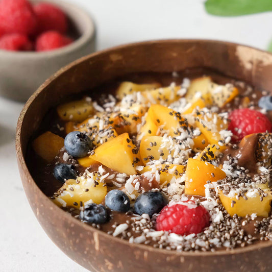
<instances>
[{"instance_id":1,"label":"large raspberry at top left of the small grey bowl's pile","mask_svg":"<svg viewBox=\"0 0 272 272\"><path fill-rule=\"evenodd\" d=\"M0 29L4 34L33 34L37 20L31 4L27 0L0 1Z\"/></svg>"}]
</instances>

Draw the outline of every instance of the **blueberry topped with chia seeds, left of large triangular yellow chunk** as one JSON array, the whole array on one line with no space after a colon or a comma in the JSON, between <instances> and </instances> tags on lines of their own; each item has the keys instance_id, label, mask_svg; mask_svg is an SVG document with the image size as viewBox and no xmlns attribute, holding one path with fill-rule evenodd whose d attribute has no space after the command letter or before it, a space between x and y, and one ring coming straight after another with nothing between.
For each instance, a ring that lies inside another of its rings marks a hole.
<instances>
[{"instance_id":1,"label":"blueberry topped with chia seeds, left of large triangular yellow chunk","mask_svg":"<svg viewBox=\"0 0 272 272\"><path fill-rule=\"evenodd\" d=\"M81 158L88 155L88 151L92 149L92 142L86 134L72 131L66 135L64 146L71 156Z\"/></svg>"}]
</instances>

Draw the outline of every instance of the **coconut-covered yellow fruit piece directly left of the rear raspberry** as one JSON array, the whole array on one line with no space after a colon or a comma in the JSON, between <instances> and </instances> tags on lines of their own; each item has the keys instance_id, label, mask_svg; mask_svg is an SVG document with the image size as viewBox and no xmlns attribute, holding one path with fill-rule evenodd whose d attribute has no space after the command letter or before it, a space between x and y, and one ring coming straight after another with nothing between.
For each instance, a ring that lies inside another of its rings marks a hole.
<instances>
[{"instance_id":1,"label":"coconut-covered yellow fruit piece directly left of the rear raspberry","mask_svg":"<svg viewBox=\"0 0 272 272\"><path fill-rule=\"evenodd\" d=\"M224 140L219 132L228 129L228 122L216 113L199 111L196 113L195 126L200 129L209 143L218 144L219 140Z\"/></svg>"}]
</instances>

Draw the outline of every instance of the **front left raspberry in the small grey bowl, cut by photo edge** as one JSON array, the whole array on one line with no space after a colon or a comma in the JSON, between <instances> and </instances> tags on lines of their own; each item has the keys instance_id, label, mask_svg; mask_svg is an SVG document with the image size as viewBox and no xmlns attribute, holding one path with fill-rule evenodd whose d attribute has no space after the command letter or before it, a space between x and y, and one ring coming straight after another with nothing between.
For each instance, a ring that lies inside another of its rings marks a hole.
<instances>
[{"instance_id":1,"label":"front left raspberry in the small grey bowl, cut by photo edge","mask_svg":"<svg viewBox=\"0 0 272 272\"><path fill-rule=\"evenodd\" d=\"M0 49L11 51L31 51L31 41L23 34L7 34L0 38Z\"/></svg>"}]
</instances>

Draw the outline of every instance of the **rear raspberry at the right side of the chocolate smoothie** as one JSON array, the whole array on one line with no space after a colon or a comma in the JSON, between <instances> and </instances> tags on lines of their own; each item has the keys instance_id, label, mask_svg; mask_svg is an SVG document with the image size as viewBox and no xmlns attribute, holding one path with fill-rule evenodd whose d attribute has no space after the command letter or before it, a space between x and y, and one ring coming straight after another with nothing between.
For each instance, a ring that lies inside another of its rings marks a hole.
<instances>
[{"instance_id":1,"label":"rear raspberry at the right side of the chocolate smoothie","mask_svg":"<svg viewBox=\"0 0 272 272\"><path fill-rule=\"evenodd\" d=\"M229 115L229 130L232 131L233 141L240 141L252 133L271 132L272 123L259 111L251 109L234 110Z\"/></svg>"}]
</instances>

